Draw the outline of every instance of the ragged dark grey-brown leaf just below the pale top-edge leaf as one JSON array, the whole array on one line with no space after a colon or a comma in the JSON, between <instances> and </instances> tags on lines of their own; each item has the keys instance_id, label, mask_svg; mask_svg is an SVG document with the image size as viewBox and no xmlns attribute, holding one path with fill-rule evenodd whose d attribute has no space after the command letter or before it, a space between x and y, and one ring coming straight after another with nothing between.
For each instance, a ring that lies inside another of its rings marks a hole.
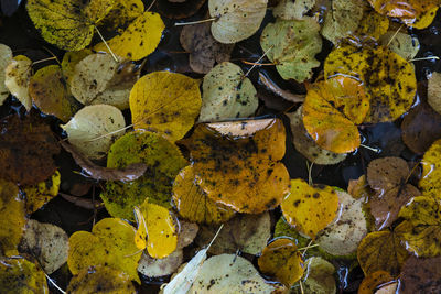
<instances>
[{"instance_id":1,"label":"ragged dark grey-brown leaf just below the pale top-edge leaf","mask_svg":"<svg viewBox=\"0 0 441 294\"><path fill-rule=\"evenodd\" d=\"M222 44L214 40L211 23L185 25L181 31L182 47L190 53L190 67L200 74L208 73L215 62L229 61L234 44Z\"/></svg>"}]
</instances>

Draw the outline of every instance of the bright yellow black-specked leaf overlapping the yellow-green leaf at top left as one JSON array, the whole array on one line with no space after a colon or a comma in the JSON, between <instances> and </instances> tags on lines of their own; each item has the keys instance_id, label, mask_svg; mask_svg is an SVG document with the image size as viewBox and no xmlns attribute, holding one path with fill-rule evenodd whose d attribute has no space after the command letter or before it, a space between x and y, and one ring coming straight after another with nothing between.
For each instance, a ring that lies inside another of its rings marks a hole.
<instances>
[{"instance_id":1,"label":"bright yellow black-specked leaf overlapping the yellow-green leaf at top left","mask_svg":"<svg viewBox=\"0 0 441 294\"><path fill-rule=\"evenodd\" d=\"M121 35L107 41L107 44L116 55L125 59L139 61L157 48L164 29L165 25L158 13L144 12ZM108 52L104 43L99 43L94 50Z\"/></svg>"}]
</instances>

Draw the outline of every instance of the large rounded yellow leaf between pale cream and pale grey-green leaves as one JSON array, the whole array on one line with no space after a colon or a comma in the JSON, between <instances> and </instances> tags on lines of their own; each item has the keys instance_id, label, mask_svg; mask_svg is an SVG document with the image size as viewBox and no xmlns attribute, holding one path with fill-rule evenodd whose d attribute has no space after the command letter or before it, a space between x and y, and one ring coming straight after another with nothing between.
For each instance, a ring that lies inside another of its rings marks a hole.
<instances>
[{"instance_id":1,"label":"large rounded yellow leaf between pale cream and pale grey-green leaves","mask_svg":"<svg viewBox=\"0 0 441 294\"><path fill-rule=\"evenodd\" d=\"M159 132L171 141L183 138L193 127L201 104L197 81L169 72L141 77L130 92L135 129Z\"/></svg>"}]
</instances>

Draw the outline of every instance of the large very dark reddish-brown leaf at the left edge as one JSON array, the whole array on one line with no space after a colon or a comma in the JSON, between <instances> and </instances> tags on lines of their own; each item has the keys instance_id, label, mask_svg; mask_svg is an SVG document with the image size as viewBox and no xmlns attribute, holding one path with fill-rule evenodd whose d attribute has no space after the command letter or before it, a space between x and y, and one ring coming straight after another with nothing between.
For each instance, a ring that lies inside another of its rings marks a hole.
<instances>
[{"instance_id":1,"label":"large very dark reddish-brown leaf at the left edge","mask_svg":"<svg viewBox=\"0 0 441 294\"><path fill-rule=\"evenodd\" d=\"M56 170L53 156L58 154L51 128L43 119L11 115L0 121L0 178L34 185Z\"/></svg>"}]
</instances>

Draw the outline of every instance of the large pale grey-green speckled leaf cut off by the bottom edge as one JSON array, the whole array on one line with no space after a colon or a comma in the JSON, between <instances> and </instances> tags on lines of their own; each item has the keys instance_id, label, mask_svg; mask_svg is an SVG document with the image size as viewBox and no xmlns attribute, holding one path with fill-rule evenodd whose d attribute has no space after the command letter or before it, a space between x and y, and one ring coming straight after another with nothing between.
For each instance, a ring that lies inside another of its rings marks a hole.
<instances>
[{"instance_id":1,"label":"large pale grey-green speckled leaf cut off by the bottom edge","mask_svg":"<svg viewBox=\"0 0 441 294\"><path fill-rule=\"evenodd\" d=\"M213 282L212 282L213 281ZM220 254L207 259L189 293L272 293L252 263L235 254Z\"/></svg>"}]
</instances>

